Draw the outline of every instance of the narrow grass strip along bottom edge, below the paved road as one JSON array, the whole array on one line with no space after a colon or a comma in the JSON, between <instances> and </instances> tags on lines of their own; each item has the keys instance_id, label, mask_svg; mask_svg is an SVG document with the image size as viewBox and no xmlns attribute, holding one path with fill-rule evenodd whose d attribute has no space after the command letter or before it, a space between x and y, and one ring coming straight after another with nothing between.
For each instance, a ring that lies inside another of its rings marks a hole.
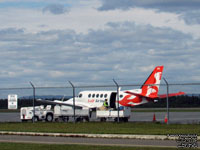
<instances>
[{"instance_id":1,"label":"narrow grass strip along bottom edge, below the paved road","mask_svg":"<svg viewBox=\"0 0 200 150\"><path fill-rule=\"evenodd\" d=\"M177 148L158 147L114 147L114 146L87 146L87 145L54 145L54 144L27 144L27 143L0 143L1 150L175 150Z\"/></svg>"}]
</instances>

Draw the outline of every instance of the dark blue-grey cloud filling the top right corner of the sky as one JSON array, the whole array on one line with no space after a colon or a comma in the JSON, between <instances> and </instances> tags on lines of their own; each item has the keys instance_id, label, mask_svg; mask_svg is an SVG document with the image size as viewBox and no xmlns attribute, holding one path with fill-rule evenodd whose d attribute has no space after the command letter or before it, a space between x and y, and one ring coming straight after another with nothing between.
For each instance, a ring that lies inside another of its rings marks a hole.
<instances>
[{"instance_id":1,"label":"dark blue-grey cloud filling the top right corner of the sky","mask_svg":"<svg viewBox=\"0 0 200 150\"><path fill-rule=\"evenodd\" d=\"M200 1L199 0L101 0L100 11L140 7L155 9L160 12L172 12L181 15L181 18L188 24L200 23Z\"/></svg>"}]
</instances>

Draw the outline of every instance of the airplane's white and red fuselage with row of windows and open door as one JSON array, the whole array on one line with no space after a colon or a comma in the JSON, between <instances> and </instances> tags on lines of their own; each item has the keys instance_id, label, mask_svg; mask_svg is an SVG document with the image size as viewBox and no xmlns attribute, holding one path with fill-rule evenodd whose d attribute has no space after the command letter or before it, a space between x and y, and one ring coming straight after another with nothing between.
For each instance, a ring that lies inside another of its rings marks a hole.
<instances>
[{"instance_id":1,"label":"airplane's white and red fuselage with row of windows and open door","mask_svg":"<svg viewBox=\"0 0 200 150\"><path fill-rule=\"evenodd\" d=\"M141 93L141 89L130 90L134 93ZM101 107L104 101L107 99L108 105L111 108L118 108L118 97L116 91L82 91L78 97L75 97L76 104L85 104L85 107L96 108ZM145 98L135 95L127 94L124 91L119 92L119 107L133 107L139 104L147 103ZM66 103L73 103L73 98L66 101Z\"/></svg>"}]
</instances>

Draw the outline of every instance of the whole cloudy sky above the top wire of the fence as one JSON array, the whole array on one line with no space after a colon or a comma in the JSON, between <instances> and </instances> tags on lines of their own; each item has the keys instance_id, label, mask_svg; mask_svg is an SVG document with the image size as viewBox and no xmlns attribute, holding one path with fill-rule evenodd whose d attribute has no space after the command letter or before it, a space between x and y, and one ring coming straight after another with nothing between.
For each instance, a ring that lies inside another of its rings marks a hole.
<instances>
[{"instance_id":1,"label":"whole cloudy sky above the top wire of the fence","mask_svg":"<svg viewBox=\"0 0 200 150\"><path fill-rule=\"evenodd\" d=\"M0 87L200 82L199 0L0 0Z\"/></svg>"}]
</instances>

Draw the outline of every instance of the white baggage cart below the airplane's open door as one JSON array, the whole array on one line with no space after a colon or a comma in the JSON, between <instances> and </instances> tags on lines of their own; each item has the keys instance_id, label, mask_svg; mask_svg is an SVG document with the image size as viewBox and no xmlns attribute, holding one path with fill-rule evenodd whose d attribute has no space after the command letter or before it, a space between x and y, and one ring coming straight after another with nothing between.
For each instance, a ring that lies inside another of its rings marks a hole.
<instances>
[{"instance_id":1,"label":"white baggage cart below the airplane's open door","mask_svg":"<svg viewBox=\"0 0 200 150\"><path fill-rule=\"evenodd\" d=\"M106 121L114 119L114 121L118 121L118 111L119 111L119 121L120 122L128 122L128 119L131 116L131 108L130 107L121 107L119 110L114 109L104 109L97 110L96 117L100 119L100 121Z\"/></svg>"}]
</instances>

